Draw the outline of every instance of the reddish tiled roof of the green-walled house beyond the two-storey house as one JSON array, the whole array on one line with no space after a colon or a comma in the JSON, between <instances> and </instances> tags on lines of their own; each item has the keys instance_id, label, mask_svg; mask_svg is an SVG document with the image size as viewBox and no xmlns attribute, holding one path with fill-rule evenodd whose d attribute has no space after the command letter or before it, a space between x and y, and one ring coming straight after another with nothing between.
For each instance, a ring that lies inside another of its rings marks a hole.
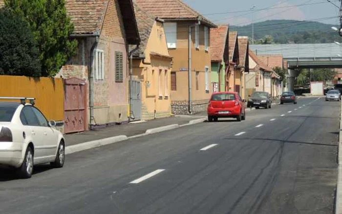
<instances>
[{"instance_id":1,"label":"reddish tiled roof of the green-walled house beyond the two-storey house","mask_svg":"<svg viewBox=\"0 0 342 214\"><path fill-rule=\"evenodd\" d=\"M217 28L210 30L210 52L211 60L214 62L221 62L223 59L224 48L228 36L228 25L220 25Z\"/></svg>"}]
</instances>

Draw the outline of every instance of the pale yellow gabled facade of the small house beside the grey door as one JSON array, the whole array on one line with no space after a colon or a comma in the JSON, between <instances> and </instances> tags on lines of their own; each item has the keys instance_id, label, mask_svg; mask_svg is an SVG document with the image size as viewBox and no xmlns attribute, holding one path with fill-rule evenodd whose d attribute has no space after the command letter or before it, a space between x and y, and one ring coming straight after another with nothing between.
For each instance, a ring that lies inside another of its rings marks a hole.
<instances>
[{"instance_id":1,"label":"pale yellow gabled facade of the small house beside the grey door","mask_svg":"<svg viewBox=\"0 0 342 214\"><path fill-rule=\"evenodd\" d=\"M162 22L155 21L151 29L145 64L142 60L134 60L133 64L133 76L141 80L141 99L147 111L142 112L143 119L153 119L154 112L156 118L171 115L171 59L150 52L169 56Z\"/></svg>"}]
</instances>

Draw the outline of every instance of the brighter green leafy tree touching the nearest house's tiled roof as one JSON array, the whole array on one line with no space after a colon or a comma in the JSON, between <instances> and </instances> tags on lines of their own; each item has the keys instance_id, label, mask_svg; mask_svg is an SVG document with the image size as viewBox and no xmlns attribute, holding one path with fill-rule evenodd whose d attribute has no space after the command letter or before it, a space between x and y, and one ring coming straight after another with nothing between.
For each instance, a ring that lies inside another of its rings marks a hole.
<instances>
[{"instance_id":1,"label":"brighter green leafy tree touching the nearest house's tiled roof","mask_svg":"<svg viewBox=\"0 0 342 214\"><path fill-rule=\"evenodd\" d=\"M38 43L43 76L54 76L77 51L69 40L73 24L64 0L5 0L5 7L27 21Z\"/></svg>"}]
</instances>

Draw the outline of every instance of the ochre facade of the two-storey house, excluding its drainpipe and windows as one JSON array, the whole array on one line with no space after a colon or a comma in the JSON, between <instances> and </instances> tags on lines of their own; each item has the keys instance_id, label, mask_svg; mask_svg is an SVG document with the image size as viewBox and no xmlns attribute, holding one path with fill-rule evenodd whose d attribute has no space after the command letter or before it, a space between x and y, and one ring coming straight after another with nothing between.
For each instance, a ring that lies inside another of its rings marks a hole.
<instances>
[{"instance_id":1,"label":"ochre facade of the two-storey house, excluding its drainpipe and windows","mask_svg":"<svg viewBox=\"0 0 342 214\"><path fill-rule=\"evenodd\" d=\"M173 57L172 71L176 72L177 90L171 91L172 101L188 100L188 29L195 22L177 22L176 48L169 48L169 54ZM199 26L199 48L195 48L195 27L192 27L192 100L209 99L212 93L211 85L211 59L210 59L210 29L208 29L208 51L204 50L204 25ZM209 67L208 89L205 91L205 67ZM180 71L185 68L185 71ZM196 71L199 72L199 90L196 90Z\"/></svg>"}]
</instances>

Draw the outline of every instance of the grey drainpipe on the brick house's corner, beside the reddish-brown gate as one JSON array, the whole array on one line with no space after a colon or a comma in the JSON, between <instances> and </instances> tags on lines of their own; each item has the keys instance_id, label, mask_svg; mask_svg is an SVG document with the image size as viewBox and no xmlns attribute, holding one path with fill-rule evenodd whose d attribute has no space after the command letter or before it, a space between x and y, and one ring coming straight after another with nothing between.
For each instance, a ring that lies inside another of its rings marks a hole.
<instances>
[{"instance_id":1,"label":"grey drainpipe on the brick house's corner, beside the reddish-brown gate","mask_svg":"<svg viewBox=\"0 0 342 214\"><path fill-rule=\"evenodd\" d=\"M93 70L93 60L94 60L94 49L99 43L100 35L96 35L95 42L90 48L90 75L89 75L89 108L90 108L90 130L92 130L92 121L94 121L94 70Z\"/></svg>"}]
</instances>

